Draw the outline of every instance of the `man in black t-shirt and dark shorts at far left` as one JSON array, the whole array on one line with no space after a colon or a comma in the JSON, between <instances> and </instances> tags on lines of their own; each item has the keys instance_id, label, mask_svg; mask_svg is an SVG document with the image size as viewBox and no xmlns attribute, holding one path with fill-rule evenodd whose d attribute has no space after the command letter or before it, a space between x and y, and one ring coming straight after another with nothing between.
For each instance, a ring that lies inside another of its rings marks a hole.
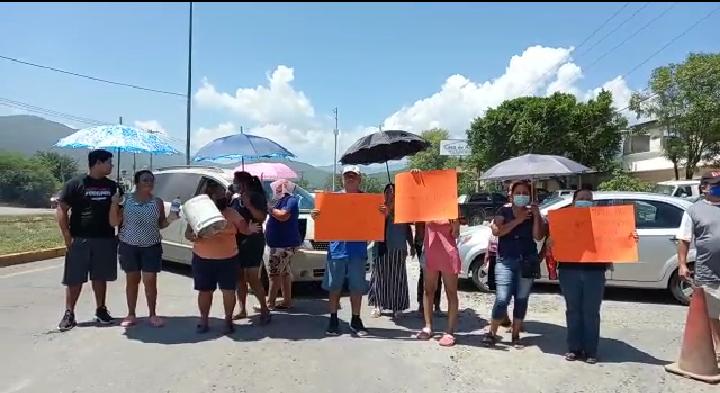
<instances>
[{"instance_id":1,"label":"man in black t-shirt and dark shorts at far left","mask_svg":"<svg viewBox=\"0 0 720 393\"><path fill-rule=\"evenodd\" d=\"M107 282L117 279L117 238L110 226L112 198L120 195L118 184L107 176L112 173L112 154L94 150L88 154L89 172L65 184L56 210L58 225L65 240L65 313L58 328L72 329L75 304L88 275L95 292L99 324L112 323L105 306ZM68 212L70 215L68 217Z\"/></svg>"}]
</instances>

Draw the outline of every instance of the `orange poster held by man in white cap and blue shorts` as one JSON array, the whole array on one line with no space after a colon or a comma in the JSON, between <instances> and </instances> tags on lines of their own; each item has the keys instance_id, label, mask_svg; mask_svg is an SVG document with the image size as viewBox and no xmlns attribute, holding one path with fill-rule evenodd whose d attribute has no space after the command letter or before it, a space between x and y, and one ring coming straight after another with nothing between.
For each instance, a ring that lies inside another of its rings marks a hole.
<instances>
[{"instance_id":1,"label":"orange poster held by man in white cap and blue shorts","mask_svg":"<svg viewBox=\"0 0 720 393\"><path fill-rule=\"evenodd\" d=\"M321 192L315 195L315 239L371 241L385 239L383 194Z\"/></svg>"}]
</instances>

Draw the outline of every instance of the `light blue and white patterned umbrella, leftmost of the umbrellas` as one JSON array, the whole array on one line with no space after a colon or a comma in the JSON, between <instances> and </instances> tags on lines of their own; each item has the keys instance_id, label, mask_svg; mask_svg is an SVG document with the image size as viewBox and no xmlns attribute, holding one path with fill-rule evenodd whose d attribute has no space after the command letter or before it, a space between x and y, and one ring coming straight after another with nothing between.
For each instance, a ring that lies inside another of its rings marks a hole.
<instances>
[{"instance_id":1,"label":"light blue and white patterned umbrella, leftmost of the umbrellas","mask_svg":"<svg viewBox=\"0 0 720 393\"><path fill-rule=\"evenodd\" d=\"M83 128L60 139L55 146L117 151L118 181L120 181L120 152L180 154L163 135L122 124Z\"/></svg>"}]
</instances>

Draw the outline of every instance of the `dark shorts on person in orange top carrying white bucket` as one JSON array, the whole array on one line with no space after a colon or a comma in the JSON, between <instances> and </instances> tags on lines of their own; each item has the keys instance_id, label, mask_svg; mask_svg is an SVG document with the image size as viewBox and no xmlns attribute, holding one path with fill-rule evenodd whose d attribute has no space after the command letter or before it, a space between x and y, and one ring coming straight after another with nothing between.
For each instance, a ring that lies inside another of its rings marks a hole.
<instances>
[{"instance_id":1,"label":"dark shorts on person in orange top carrying white bucket","mask_svg":"<svg viewBox=\"0 0 720 393\"><path fill-rule=\"evenodd\" d=\"M237 289L237 257L205 259L193 254L192 272L196 291Z\"/></svg>"}]
</instances>

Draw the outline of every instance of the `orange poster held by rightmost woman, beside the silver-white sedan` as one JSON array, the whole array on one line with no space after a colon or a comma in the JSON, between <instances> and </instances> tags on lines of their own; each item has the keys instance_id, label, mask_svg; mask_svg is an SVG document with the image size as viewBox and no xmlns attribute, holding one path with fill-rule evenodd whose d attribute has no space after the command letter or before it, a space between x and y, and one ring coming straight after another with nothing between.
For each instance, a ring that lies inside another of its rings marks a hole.
<instances>
[{"instance_id":1,"label":"orange poster held by rightmost woman, beside the silver-white sedan","mask_svg":"<svg viewBox=\"0 0 720 393\"><path fill-rule=\"evenodd\" d=\"M569 207L551 211L548 220L558 262L638 261L633 206Z\"/></svg>"}]
</instances>

